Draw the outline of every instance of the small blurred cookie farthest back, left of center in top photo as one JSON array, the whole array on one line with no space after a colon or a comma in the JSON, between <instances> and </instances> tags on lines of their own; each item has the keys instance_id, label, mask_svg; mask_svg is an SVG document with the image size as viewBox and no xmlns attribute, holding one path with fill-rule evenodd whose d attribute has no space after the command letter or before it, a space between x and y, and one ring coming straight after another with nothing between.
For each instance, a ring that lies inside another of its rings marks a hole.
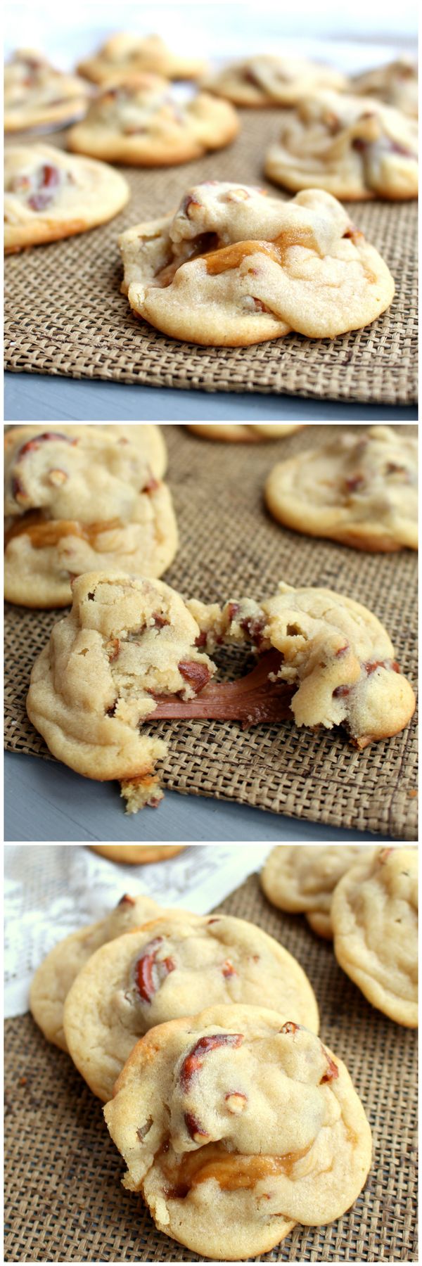
<instances>
[{"instance_id":1,"label":"small blurred cookie farthest back, left of center in top photo","mask_svg":"<svg viewBox=\"0 0 422 1266\"><path fill-rule=\"evenodd\" d=\"M195 57L172 53L160 35L141 39L138 35L118 34L112 35L94 57L80 62L77 70L94 84L109 84L113 80L124 82L144 71L169 80L198 80L207 66Z\"/></svg>"}]
</instances>

